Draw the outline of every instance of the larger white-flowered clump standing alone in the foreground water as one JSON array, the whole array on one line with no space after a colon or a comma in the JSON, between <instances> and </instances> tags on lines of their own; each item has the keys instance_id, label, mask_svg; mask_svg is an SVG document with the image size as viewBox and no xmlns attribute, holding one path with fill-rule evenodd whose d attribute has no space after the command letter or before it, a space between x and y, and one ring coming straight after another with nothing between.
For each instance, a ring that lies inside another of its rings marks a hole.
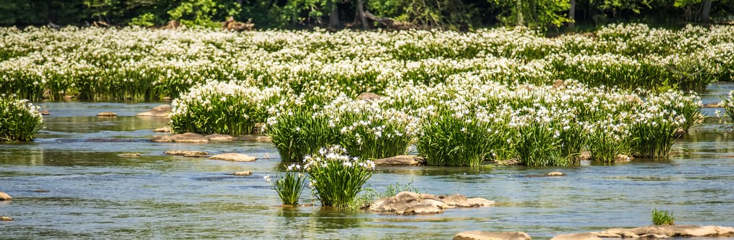
<instances>
[{"instance_id":1,"label":"larger white-flowered clump standing alone in the foreground water","mask_svg":"<svg viewBox=\"0 0 734 240\"><path fill-rule=\"evenodd\" d=\"M346 207L363 190L372 176L373 161L347 155L338 145L321 148L313 156L305 156L304 168L310 186L323 206Z\"/></svg>"}]
</instances>

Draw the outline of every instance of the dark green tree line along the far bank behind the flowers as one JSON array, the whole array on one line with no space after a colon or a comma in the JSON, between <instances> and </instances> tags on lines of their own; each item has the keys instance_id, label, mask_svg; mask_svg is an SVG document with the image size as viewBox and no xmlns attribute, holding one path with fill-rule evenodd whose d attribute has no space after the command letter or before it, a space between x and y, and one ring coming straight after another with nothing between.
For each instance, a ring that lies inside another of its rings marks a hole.
<instances>
[{"instance_id":1,"label":"dark green tree line along the far bank behind the flowers","mask_svg":"<svg viewBox=\"0 0 734 240\"><path fill-rule=\"evenodd\" d=\"M258 29L534 29L617 22L734 23L734 0L0 0L0 24L219 27L232 17ZM370 18L368 18L370 17Z\"/></svg>"}]
</instances>

